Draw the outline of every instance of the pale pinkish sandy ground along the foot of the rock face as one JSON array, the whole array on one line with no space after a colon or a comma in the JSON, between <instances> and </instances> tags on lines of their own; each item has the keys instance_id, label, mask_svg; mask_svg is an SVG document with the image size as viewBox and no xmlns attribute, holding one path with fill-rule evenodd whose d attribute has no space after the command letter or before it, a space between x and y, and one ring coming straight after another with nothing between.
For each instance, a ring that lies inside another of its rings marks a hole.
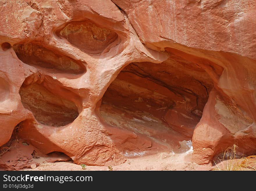
<instances>
[{"instance_id":1,"label":"pale pinkish sandy ground along the foot of the rock face","mask_svg":"<svg viewBox=\"0 0 256 191\"><path fill-rule=\"evenodd\" d=\"M161 152L154 155L130 158L121 165L112 166L113 170L211 170L210 165L198 165L191 162L191 152L181 154ZM83 170L81 165L68 162L46 162L47 158L34 159L39 166L24 170ZM109 170L107 166L86 166L85 170Z\"/></svg>"}]
</instances>

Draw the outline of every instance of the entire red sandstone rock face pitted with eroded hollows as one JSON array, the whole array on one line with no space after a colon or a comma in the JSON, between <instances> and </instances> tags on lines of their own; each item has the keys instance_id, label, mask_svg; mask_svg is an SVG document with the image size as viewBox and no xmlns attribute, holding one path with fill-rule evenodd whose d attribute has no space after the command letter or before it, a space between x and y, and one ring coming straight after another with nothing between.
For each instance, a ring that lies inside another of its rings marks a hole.
<instances>
[{"instance_id":1,"label":"entire red sandstone rock face pitted with eroded hollows","mask_svg":"<svg viewBox=\"0 0 256 191\"><path fill-rule=\"evenodd\" d=\"M18 126L19 140L86 165L190 139L200 164L233 143L256 152L255 1L0 8L0 145Z\"/></svg>"}]
</instances>

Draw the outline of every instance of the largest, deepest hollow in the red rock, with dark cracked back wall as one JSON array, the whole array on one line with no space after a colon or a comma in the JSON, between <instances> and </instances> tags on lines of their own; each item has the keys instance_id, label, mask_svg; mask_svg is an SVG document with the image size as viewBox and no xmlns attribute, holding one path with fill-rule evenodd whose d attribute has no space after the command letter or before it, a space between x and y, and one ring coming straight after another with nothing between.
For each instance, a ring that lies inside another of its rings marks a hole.
<instances>
[{"instance_id":1,"label":"largest, deepest hollow in the red rock, with dark cracked back wall","mask_svg":"<svg viewBox=\"0 0 256 191\"><path fill-rule=\"evenodd\" d=\"M192 138L212 87L205 70L179 57L131 63L105 92L99 114L109 125L168 146Z\"/></svg>"}]
</instances>

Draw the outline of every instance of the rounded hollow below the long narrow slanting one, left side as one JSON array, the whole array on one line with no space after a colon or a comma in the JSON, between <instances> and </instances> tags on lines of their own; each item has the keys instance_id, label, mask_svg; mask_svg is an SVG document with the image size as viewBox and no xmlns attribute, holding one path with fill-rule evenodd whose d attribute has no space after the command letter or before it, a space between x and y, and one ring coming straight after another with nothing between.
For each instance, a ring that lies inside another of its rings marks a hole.
<instances>
[{"instance_id":1,"label":"rounded hollow below the long narrow slanting one, left side","mask_svg":"<svg viewBox=\"0 0 256 191\"><path fill-rule=\"evenodd\" d=\"M73 101L52 93L45 81L27 84L28 81L25 80L22 84L19 94L24 108L29 109L39 123L59 127L77 118L78 108ZM56 87L55 91L58 92L58 89ZM65 94L66 97L71 97L70 91L66 90Z\"/></svg>"}]
</instances>

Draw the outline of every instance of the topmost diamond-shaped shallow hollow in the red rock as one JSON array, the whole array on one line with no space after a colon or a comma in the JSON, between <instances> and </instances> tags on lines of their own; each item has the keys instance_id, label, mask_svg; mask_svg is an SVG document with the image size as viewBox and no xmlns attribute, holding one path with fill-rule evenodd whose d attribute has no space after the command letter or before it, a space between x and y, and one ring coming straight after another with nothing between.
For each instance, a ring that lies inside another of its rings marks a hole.
<instances>
[{"instance_id":1,"label":"topmost diamond-shaped shallow hollow in the red rock","mask_svg":"<svg viewBox=\"0 0 256 191\"><path fill-rule=\"evenodd\" d=\"M115 32L91 21L72 21L57 34L88 54L100 54L118 38Z\"/></svg>"}]
</instances>

